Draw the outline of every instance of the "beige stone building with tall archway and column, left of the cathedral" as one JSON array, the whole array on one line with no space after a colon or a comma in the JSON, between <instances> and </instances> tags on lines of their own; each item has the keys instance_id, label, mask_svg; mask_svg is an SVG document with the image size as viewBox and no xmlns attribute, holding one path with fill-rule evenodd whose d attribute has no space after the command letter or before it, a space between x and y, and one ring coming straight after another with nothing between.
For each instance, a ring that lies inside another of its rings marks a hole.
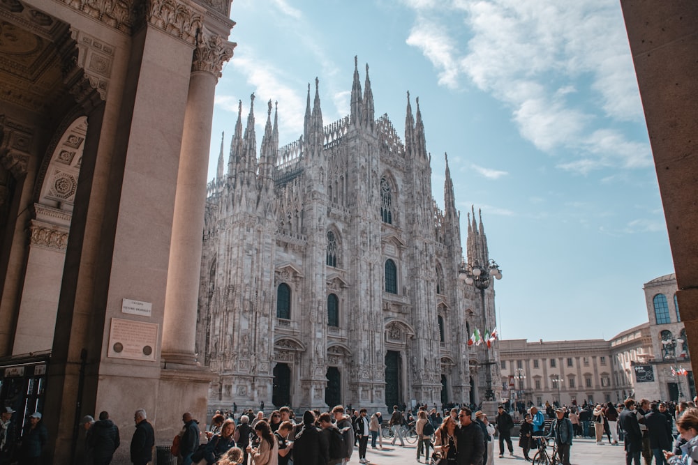
<instances>
[{"instance_id":1,"label":"beige stone building with tall archway and column, left of the cathedral","mask_svg":"<svg viewBox=\"0 0 698 465\"><path fill-rule=\"evenodd\" d=\"M170 443L204 418L194 352L214 90L229 0L0 2L0 402L43 413L43 464L85 414ZM195 264L192 266L192 264ZM174 407L176 406L176 407Z\"/></svg>"}]
</instances>

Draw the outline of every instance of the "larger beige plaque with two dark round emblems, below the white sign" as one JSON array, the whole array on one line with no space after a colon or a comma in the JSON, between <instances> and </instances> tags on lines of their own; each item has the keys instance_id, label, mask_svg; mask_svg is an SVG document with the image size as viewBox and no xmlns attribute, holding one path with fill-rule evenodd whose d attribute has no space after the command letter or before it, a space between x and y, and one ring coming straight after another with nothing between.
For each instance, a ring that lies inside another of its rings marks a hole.
<instances>
[{"instance_id":1,"label":"larger beige plaque with two dark round emblems, below the white sign","mask_svg":"<svg viewBox=\"0 0 698 465\"><path fill-rule=\"evenodd\" d=\"M158 324L112 318L107 357L155 361Z\"/></svg>"}]
</instances>

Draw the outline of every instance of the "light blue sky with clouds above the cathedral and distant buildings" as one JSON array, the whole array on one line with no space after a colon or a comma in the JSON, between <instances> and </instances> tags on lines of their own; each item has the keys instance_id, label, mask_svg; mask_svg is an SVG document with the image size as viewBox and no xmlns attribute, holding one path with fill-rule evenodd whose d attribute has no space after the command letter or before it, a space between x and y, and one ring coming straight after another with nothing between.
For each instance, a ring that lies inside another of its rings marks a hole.
<instances>
[{"instance_id":1,"label":"light blue sky with clouds above the cathedral and distant buildings","mask_svg":"<svg viewBox=\"0 0 698 465\"><path fill-rule=\"evenodd\" d=\"M463 231L482 209L500 337L609 339L647 320L642 285L674 268L617 0L235 0L231 17L209 178L238 100L246 116L255 93L258 147L278 101L287 144L315 77L325 125L349 113L357 55L399 134L419 97L438 204L447 153Z\"/></svg>"}]
</instances>

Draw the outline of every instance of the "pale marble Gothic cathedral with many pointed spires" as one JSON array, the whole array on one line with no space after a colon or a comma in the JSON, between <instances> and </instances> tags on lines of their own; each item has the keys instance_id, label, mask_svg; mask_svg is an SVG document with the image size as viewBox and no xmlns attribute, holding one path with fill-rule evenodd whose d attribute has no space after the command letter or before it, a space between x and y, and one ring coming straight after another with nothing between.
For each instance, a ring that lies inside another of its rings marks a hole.
<instances>
[{"instance_id":1,"label":"pale marble Gothic cathedral with many pointed spires","mask_svg":"<svg viewBox=\"0 0 698 465\"><path fill-rule=\"evenodd\" d=\"M374 115L368 66L363 90L355 66L350 114L329 125L318 87L297 141L279 146L269 101L258 155L252 96L227 167L221 142L196 338L218 374L209 409L483 400L487 379L499 379L497 344L485 353L468 338L493 328L494 291L459 280L452 179L446 164L441 210L419 99L413 114L408 93L403 142ZM473 211L468 262L488 259Z\"/></svg>"}]
</instances>

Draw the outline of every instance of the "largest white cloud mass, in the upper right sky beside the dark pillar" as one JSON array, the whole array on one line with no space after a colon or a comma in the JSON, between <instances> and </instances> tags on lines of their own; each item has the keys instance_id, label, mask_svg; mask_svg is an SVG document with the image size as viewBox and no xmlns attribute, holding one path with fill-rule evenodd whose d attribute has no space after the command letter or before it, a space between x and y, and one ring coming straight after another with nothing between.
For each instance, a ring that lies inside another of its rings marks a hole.
<instances>
[{"instance_id":1,"label":"largest white cloud mass, in the upper right sky beside the dark pillar","mask_svg":"<svg viewBox=\"0 0 698 465\"><path fill-rule=\"evenodd\" d=\"M417 18L407 43L431 61L439 84L458 89L467 77L505 102L521 137L565 158L560 169L586 174L651 165L646 142L613 129L642 117L617 3L403 3ZM462 31L449 27L453 17L460 17L468 38L459 39Z\"/></svg>"}]
</instances>

